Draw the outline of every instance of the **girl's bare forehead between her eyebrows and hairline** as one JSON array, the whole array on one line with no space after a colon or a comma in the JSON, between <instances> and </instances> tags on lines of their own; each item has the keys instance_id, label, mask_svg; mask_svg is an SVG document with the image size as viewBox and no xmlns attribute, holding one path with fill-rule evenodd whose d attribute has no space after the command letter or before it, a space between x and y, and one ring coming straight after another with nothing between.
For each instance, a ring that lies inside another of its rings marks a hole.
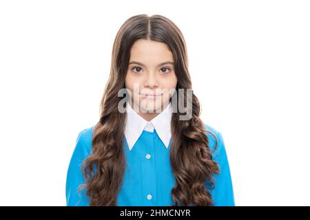
<instances>
[{"instance_id":1,"label":"girl's bare forehead between her eyebrows and hairline","mask_svg":"<svg viewBox=\"0 0 310 220\"><path fill-rule=\"evenodd\" d=\"M139 39L132 45L130 61L152 65L174 60L167 44L149 39Z\"/></svg>"}]
</instances>

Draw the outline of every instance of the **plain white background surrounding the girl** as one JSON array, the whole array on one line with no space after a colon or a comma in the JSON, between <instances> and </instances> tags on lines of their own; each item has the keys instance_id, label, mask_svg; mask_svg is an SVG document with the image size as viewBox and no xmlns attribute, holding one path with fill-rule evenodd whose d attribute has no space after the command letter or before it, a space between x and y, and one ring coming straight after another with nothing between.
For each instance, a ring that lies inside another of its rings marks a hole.
<instances>
[{"instance_id":1,"label":"plain white background surrounding the girl","mask_svg":"<svg viewBox=\"0 0 310 220\"><path fill-rule=\"evenodd\" d=\"M187 41L236 206L309 206L309 1L1 1L2 206L65 206L79 131L99 120L112 44L136 14Z\"/></svg>"}]
</instances>

